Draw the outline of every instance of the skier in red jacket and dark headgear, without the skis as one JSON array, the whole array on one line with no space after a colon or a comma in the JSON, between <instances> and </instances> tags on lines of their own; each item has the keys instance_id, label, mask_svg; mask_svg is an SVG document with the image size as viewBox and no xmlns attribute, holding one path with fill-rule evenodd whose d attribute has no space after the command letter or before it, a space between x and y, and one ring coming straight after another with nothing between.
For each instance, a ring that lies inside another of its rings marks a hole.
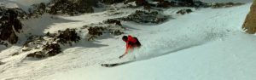
<instances>
[{"instance_id":1,"label":"skier in red jacket and dark headgear, without the skis","mask_svg":"<svg viewBox=\"0 0 256 80\"><path fill-rule=\"evenodd\" d=\"M128 54L128 52L130 52L135 48L141 47L141 43L137 40L137 37L132 37L131 35L128 35L128 37L124 36L122 37L122 39L126 43L125 54ZM124 57L125 54L122 54L121 56L119 56L119 59Z\"/></svg>"}]
</instances>

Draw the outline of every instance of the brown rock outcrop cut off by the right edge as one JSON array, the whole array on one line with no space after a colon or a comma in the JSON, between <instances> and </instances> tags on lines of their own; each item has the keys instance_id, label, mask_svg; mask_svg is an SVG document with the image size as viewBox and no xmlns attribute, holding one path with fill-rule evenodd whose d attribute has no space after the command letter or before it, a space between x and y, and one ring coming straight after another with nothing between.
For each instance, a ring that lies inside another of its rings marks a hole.
<instances>
[{"instance_id":1,"label":"brown rock outcrop cut off by the right edge","mask_svg":"<svg viewBox=\"0 0 256 80\"><path fill-rule=\"evenodd\" d=\"M256 32L256 0L253 1L249 14L242 26L242 28L250 34Z\"/></svg>"}]
</instances>

